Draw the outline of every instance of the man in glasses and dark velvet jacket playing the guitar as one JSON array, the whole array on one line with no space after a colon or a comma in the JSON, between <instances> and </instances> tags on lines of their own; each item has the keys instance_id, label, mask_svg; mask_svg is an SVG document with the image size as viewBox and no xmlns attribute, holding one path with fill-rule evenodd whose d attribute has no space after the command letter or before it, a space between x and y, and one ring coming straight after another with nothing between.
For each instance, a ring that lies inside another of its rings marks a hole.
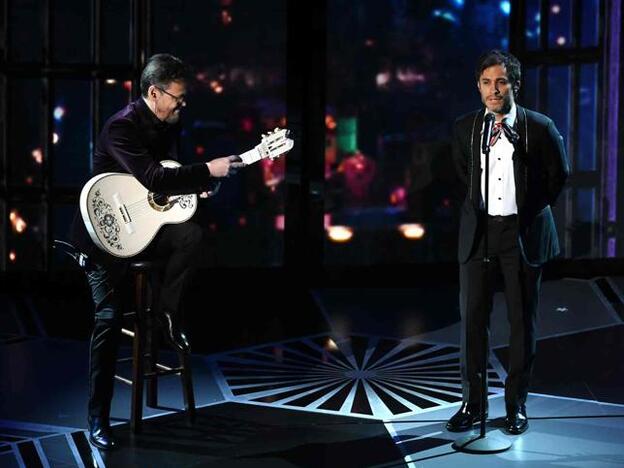
<instances>
[{"instance_id":1,"label":"man in glasses and dark velvet jacket playing the guitar","mask_svg":"<svg viewBox=\"0 0 624 468\"><path fill-rule=\"evenodd\" d=\"M244 166L238 156L213 159L178 168L164 168L163 159L177 159L180 112L186 105L187 67L169 54L151 57L141 74L142 96L104 124L93 155L93 174L132 174L149 191L160 194L210 191L215 179ZM115 444L109 424L115 363L121 330L119 288L127 262L99 251L89 238L80 214L74 220L73 240L89 255L88 282L95 303L90 344L89 440L99 448ZM202 230L191 221L162 227L148 247L150 258L166 261L157 315L174 349L189 352L179 326L185 286L199 257Z\"/></svg>"}]
</instances>

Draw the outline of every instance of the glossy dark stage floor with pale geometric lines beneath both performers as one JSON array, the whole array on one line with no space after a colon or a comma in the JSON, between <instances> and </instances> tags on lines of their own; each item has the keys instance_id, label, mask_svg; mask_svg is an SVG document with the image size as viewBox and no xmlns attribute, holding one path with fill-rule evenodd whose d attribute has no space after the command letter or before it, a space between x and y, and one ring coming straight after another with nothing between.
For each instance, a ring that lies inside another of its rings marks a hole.
<instances>
[{"instance_id":1,"label":"glossy dark stage floor with pale geometric lines beneath both performers","mask_svg":"<svg viewBox=\"0 0 624 468\"><path fill-rule=\"evenodd\" d=\"M143 432L131 434L130 391L118 383L119 448L108 453L84 432L87 343L4 336L0 467L624 466L623 285L544 283L520 436L502 430L508 330L496 298L487 427L513 442L503 453L457 453L451 444L465 434L444 428L461 401L452 296L332 289L314 291L326 333L194 355L193 424L179 411L179 379L166 377L159 408L146 408Z\"/></svg>"}]
</instances>

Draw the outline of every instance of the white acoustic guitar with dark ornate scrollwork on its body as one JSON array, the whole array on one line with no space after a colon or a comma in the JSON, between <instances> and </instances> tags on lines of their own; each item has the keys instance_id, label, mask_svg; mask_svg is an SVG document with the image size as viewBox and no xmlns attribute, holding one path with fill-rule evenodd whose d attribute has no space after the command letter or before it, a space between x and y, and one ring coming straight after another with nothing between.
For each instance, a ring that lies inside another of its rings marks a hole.
<instances>
[{"instance_id":1,"label":"white acoustic guitar with dark ornate scrollwork on its body","mask_svg":"<svg viewBox=\"0 0 624 468\"><path fill-rule=\"evenodd\" d=\"M276 159L290 151L294 141L288 130L275 129L259 145L240 156L245 164ZM161 161L177 167L176 161ZM149 192L134 176L117 172L99 174L80 192L80 213L91 239L115 257L142 252L164 224L183 223L197 209L197 195L160 195Z\"/></svg>"}]
</instances>

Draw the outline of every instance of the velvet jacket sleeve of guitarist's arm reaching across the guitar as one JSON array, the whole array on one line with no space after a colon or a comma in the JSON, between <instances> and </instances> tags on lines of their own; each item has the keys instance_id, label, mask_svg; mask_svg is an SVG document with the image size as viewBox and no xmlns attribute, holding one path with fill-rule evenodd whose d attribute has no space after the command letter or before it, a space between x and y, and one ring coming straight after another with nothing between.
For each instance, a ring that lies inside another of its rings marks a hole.
<instances>
[{"instance_id":1,"label":"velvet jacket sleeve of guitarist's arm reaching across the guitar","mask_svg":"<svg viewBox=\"0 0 624 468\"><path fill-rule=\"evenodd\" d=\"M154 161L130 120L112 122L107 140L109 154L151 192L198 193L211 183L210 171L205 163L164 168Z\"/></svg>"}]
</instances>

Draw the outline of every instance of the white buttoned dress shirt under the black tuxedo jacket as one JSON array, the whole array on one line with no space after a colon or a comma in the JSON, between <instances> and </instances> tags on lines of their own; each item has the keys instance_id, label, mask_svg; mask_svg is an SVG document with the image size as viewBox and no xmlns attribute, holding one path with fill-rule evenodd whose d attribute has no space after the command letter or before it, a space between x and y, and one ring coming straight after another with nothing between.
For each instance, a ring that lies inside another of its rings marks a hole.
<instances>
[{"instance_id":1,"label":"white buttoned dress shirt under the black tuxedo jacket","mask_svg":"<svg viewBox=\"0 0 624 468\"><path fill-rule=\"evenodd\" d=\"M486 114L489 111L486 110ZM516 104L511 106L509 114L503 117L509 126L516 121ZM481 129L483 134L483 128ZM509 216L518 214L516 204L516 181L513 170L514 147L507 139L505 132L500 132L496 144L490 147L490 183L488 214L492 216ZM481 153L481 198L485 200L485 154Z\"/></svg>"}]
</instances>

